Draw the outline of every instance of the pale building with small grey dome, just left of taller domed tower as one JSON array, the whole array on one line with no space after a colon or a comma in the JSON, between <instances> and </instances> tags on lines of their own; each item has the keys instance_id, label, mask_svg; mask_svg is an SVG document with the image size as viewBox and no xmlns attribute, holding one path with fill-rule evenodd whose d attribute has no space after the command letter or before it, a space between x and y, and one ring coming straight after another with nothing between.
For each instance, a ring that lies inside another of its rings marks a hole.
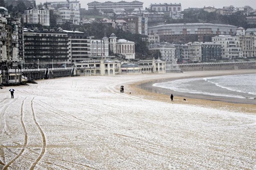
<instances>
[{"instance_id":1,"label":"pale building with small grey dome, just left of taller domed tower","mask_svg":"<svg viewBox=\"0 0 256 170\"><path fill-rule=\"evenodd\" d=\"M108 37L103 37L102 40L91 41L91 56L108 56Z\"/></svg>"}]
</instances>

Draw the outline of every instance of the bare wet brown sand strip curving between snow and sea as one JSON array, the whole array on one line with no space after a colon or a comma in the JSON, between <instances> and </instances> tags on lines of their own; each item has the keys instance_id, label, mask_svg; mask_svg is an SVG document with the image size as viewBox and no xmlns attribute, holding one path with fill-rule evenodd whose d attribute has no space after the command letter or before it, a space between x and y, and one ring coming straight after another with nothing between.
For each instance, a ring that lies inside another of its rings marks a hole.
<instances>
[{"instance_id":1,"label":"bare wet brown sand strip curving between snow and sea","mask_svg":"<svg viewBox=\"0 0 256 170\"><path fill-rule=\"evenodd\" d=\"M139 81L136 83L132 83L129 85L129 87L135 92L135 95L140 96L145 99L150 99L150 100L157 100L157 101L162 101L162 102L167 102L167 103L172 103L170 101L170 95L169 93L175 94L174 92L170 89L165 89L161 87L155 87L152 86L153 83L156 82L165 82L165 81L172 81L172 80L177 80L177 79L186 79L186 78L202 78L202 77L214 77L214 76L225 76L225 75L238 75L238 74L254 74L256 73L256 70L221 70L217 71L217 73L212 74L212 71L205 72L202 75L193 75L193 72L195 71L188 71L184 73L192 73L190 76L182 75L176 77L176 76L170 76L170 78L156 78L156 79L149 79L149 80L144 80L144 81ZM177 74L177 73L175 73ZM144 88L145 85L150 85L150 89L147 89L148 87ZM143 87L142 87L143 86ZM168 93L168 94L166 94ZM176 92L177 93L177 92ZM180 93L180 92L179 92ZM223 98L223 97L211 97L211 96L202 96L200 94L191 94L187 95L188 93L184 93L182 95L175 95L174 96L174 104L184 104L184 105L197 105L201 107L211 107L211 108L218 108L218 109L228 109L236 112L246 112L246 113L256 113L256 107L255 104L252 103L241 103L239 101L235 100L229 100L229 98ZM185 97L186 96L186 97ZM192 97L193 96L193 97ZM183 101L183 99L186 98L187 101Z\"/></svg>"}]
</instances>

